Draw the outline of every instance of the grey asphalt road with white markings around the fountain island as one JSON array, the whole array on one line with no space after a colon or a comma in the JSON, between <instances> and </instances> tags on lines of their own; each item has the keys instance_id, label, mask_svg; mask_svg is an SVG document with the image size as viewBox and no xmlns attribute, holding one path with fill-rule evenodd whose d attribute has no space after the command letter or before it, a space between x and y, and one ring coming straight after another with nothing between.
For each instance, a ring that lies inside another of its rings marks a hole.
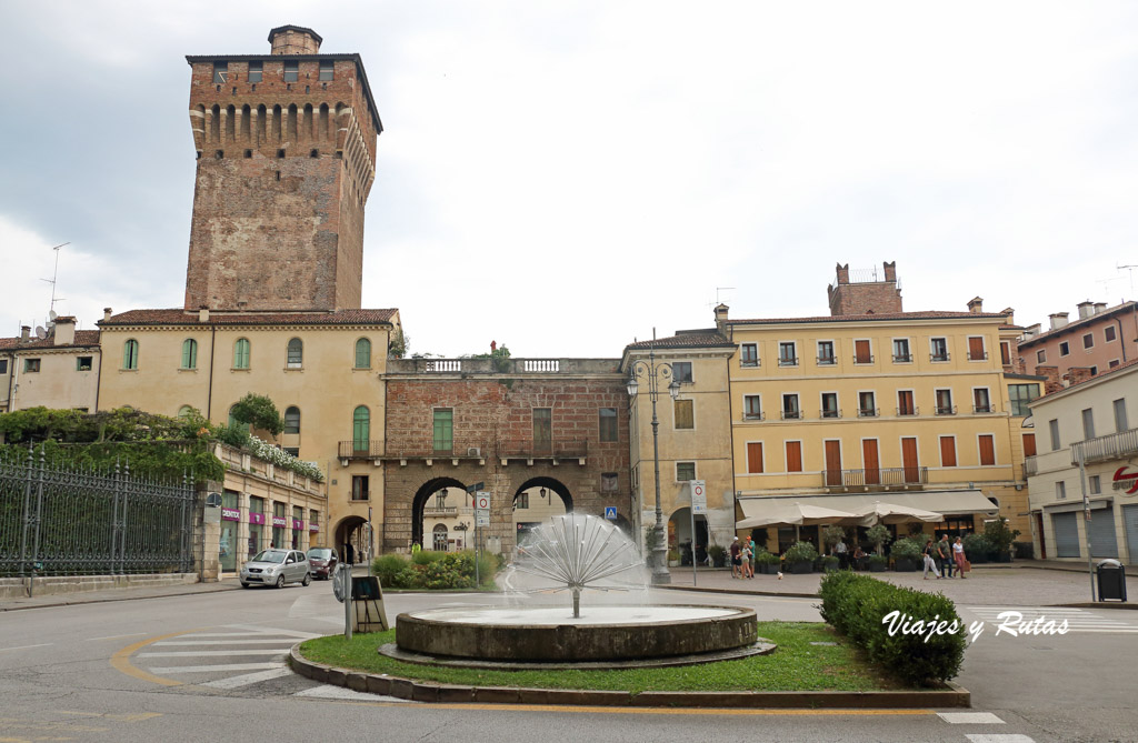
<instances>
[{"instance_id":1,"label":"grey asphalt road with white markings around the fountain island","mask_svg":"<svg viewBox=\"0 0 1138 743\"><path fill-rule=\"evenodd\" d=\"M761 618L817 618L816 601L807 598L675 591L651 598L747 605ZM388 597L393 614L496 600ZM997 637L991 621L1007 608L964 608L970 621L989 622L959 679L973 691L975 709L865 713L427 705L356 694L281 664L297 639L341 626L343 608L328 584L11 611L0 613L0 741L531 743L552 730L609 741L1136 740L1138 643L1131 635L1138 612L1072 610L1065 616L1078 631ZM1053 613L1025 613L1040 611Z\"/></svg>"}]
</instances>

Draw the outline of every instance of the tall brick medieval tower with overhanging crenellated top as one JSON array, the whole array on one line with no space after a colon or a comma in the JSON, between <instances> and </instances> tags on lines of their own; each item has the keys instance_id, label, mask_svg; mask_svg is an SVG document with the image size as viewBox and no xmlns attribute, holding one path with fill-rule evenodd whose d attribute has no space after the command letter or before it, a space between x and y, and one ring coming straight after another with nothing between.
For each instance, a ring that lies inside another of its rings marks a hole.
<instances>
[{"instance_id":1,"label":"tall brick medieval tower with overhanging crenellated top","mask_svg":"<svg viewBox=\"0 0 1138 743\"><path fill-rule=\"evenodd\" d=\"M185 309L358 308L384 131L360 55L311 28L271 55L187 57L198 155Z\"/></svg>"}]
</instances>

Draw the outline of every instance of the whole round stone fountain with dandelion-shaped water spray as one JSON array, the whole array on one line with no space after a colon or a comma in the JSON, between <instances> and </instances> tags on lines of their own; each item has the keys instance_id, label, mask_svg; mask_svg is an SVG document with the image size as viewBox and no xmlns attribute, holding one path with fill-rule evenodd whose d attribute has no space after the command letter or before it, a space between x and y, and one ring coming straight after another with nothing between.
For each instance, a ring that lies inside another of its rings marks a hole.
<instances>
[{"instance_id":1,"label":"whole round stone fountain with dandelion-shaped water spray","mask_svg":"<svg viewBox=\"0 0 1138 743\"><path fill-rule=\"evenodd\" d=\"M646 598L648 578L635 545L612 523L554 517L522 540L502 578L512 605L399 614L396 642L380 652L464 667L616 668L692 664L774 649L757 643L750 609L611 603L611 595L630 592ZM560 593L570 601L538 603Z\"/></svg>"}]
</instances>

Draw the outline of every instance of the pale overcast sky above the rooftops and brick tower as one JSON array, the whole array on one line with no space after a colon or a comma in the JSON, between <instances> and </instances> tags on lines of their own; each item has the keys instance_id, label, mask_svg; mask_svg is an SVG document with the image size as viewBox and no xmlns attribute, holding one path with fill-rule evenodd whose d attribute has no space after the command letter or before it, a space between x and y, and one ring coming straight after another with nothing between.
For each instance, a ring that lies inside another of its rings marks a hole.
<instances>
[{"instance_id":1,"label":"pale overcast sky above the rooftops and brick tower","mask_svg":"<svg viewBox=\"0 0 1138 743\"><path fill-rule=\"evenodd\" d=\"M0 336L183 302L184 55L269 30L360 52L385 132L364 307L412 352L618 356L827 314L896 261L907 311L1020 324L1135 297L1138 3L0 0ZM729 287L729 288L728 288Z\"/></svg>"}]
</instances>

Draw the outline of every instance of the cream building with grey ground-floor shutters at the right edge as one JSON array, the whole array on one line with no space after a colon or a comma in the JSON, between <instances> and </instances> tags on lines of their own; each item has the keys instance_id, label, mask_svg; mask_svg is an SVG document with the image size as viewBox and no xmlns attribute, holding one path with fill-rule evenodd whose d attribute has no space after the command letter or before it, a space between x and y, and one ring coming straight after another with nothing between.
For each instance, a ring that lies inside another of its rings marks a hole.
<instances>
[{"instance_id":1,"label":"cream building with grey ground-floor shutters at the right edge","mask_svg":"<svg viewBox=\"0 0 1138 743\"><path fill-rule=\"evenodd\" d=\"M1038 454L1026 461L1040 559L1138 561L1138 362L1031 403ZM1080 468L1081 460L1081 468ZM1088 518L1089 513L1089 518Z\"/></svg>"}]
</instances>

